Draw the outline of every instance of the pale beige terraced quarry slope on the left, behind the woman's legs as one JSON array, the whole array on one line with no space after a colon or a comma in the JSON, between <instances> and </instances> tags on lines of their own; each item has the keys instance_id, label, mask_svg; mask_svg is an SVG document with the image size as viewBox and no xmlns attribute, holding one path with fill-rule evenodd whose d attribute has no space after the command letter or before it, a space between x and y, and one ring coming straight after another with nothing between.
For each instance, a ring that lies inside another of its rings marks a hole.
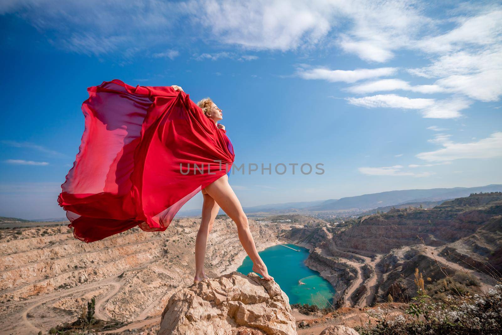
<instances>
[{"instance_id":1,"label":"pale beige terraced quarry slope on the left, behind the woman's legs","mask_svg":"<svg viewBox=\"0 0 502 335\"><path fill-rule=\"evenodd\" d=\"M249 221L259 250L277 243L280 224ZM165 232L136 228L90 244L74 239L66 226L0 231L3 330L36 334L72 322L92 297L96 318L158 323L169 297L193 283L199 226L200 219L185 218ZM234 271L245 256L234 222L218 218L206 273Z\"/></svg>"}]
</instances>

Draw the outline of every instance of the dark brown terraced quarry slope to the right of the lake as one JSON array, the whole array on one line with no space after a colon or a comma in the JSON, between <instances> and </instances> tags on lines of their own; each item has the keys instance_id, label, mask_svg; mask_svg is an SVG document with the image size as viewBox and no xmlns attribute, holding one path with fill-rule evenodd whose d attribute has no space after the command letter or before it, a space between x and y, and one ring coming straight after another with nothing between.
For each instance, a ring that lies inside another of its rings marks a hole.
<instances>
[{"instance_id":1,"label":"dark brown terraced quarry slope to the right of the lake","mask_svg":"<svg viewBox=\"0 0 502 335\"><path fill-rule=\"evenodd\" d=\"M473 270L502 272L501 217L501 193L473 194L432 209L364 216L348 228L298 228L281 236L310 249L306 264L336 288L337 306L362 307L389 295L409 301L417 268L429 295L444 295L449 281L455 289L487 290L495 281Z\"/></svg>"}]
</instances>

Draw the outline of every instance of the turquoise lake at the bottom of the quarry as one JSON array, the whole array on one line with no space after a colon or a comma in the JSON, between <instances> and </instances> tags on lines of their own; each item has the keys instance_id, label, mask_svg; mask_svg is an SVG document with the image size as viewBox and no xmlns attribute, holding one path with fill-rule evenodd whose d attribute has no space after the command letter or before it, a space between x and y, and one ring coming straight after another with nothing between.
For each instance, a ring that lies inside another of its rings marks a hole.
<instances>
[{"instance_id":1,"label":"turquoise lake at the bottom of the quarry","mask_svg":"<svg viewBox=\"0 0 502 335\"><path fill-rule=\"evenodd\" d=\"M285 248L284 246L291 247ZM326 307L333 303L335 291L331 284L319 275L319 272L309 269L303 261L309 256L306 248L294 244L277 245L259 252L267 265L269 274L288 295L289 303L308 303L318 307ZM253 262L246 257L238 272L252 272ZM304 284L300 284L300 282Z\"/></svg>"}]
</instances>

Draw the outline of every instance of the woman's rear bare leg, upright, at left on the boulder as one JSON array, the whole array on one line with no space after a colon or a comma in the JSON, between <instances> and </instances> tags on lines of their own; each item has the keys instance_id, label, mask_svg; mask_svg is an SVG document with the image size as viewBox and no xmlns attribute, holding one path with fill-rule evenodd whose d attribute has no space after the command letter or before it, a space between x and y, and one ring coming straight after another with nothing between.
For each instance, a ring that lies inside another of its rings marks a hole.
<instances>
[{"instance_id":1,"label":"woman's rear bare leg, upright, at left on the boulder","mask_svg":"<svg viewBox=\"0 0 502 335\"><path fill-rule=\"evenodd\" d=\"M202 193L204 202L202 203L202 218L199 232L195 239L195 278L194 283L208 278L204 273L204 256L206 254L207 238L213 228L214 219L219 211L219 206L207 193Z\"/></svg>"}]
</instances>

